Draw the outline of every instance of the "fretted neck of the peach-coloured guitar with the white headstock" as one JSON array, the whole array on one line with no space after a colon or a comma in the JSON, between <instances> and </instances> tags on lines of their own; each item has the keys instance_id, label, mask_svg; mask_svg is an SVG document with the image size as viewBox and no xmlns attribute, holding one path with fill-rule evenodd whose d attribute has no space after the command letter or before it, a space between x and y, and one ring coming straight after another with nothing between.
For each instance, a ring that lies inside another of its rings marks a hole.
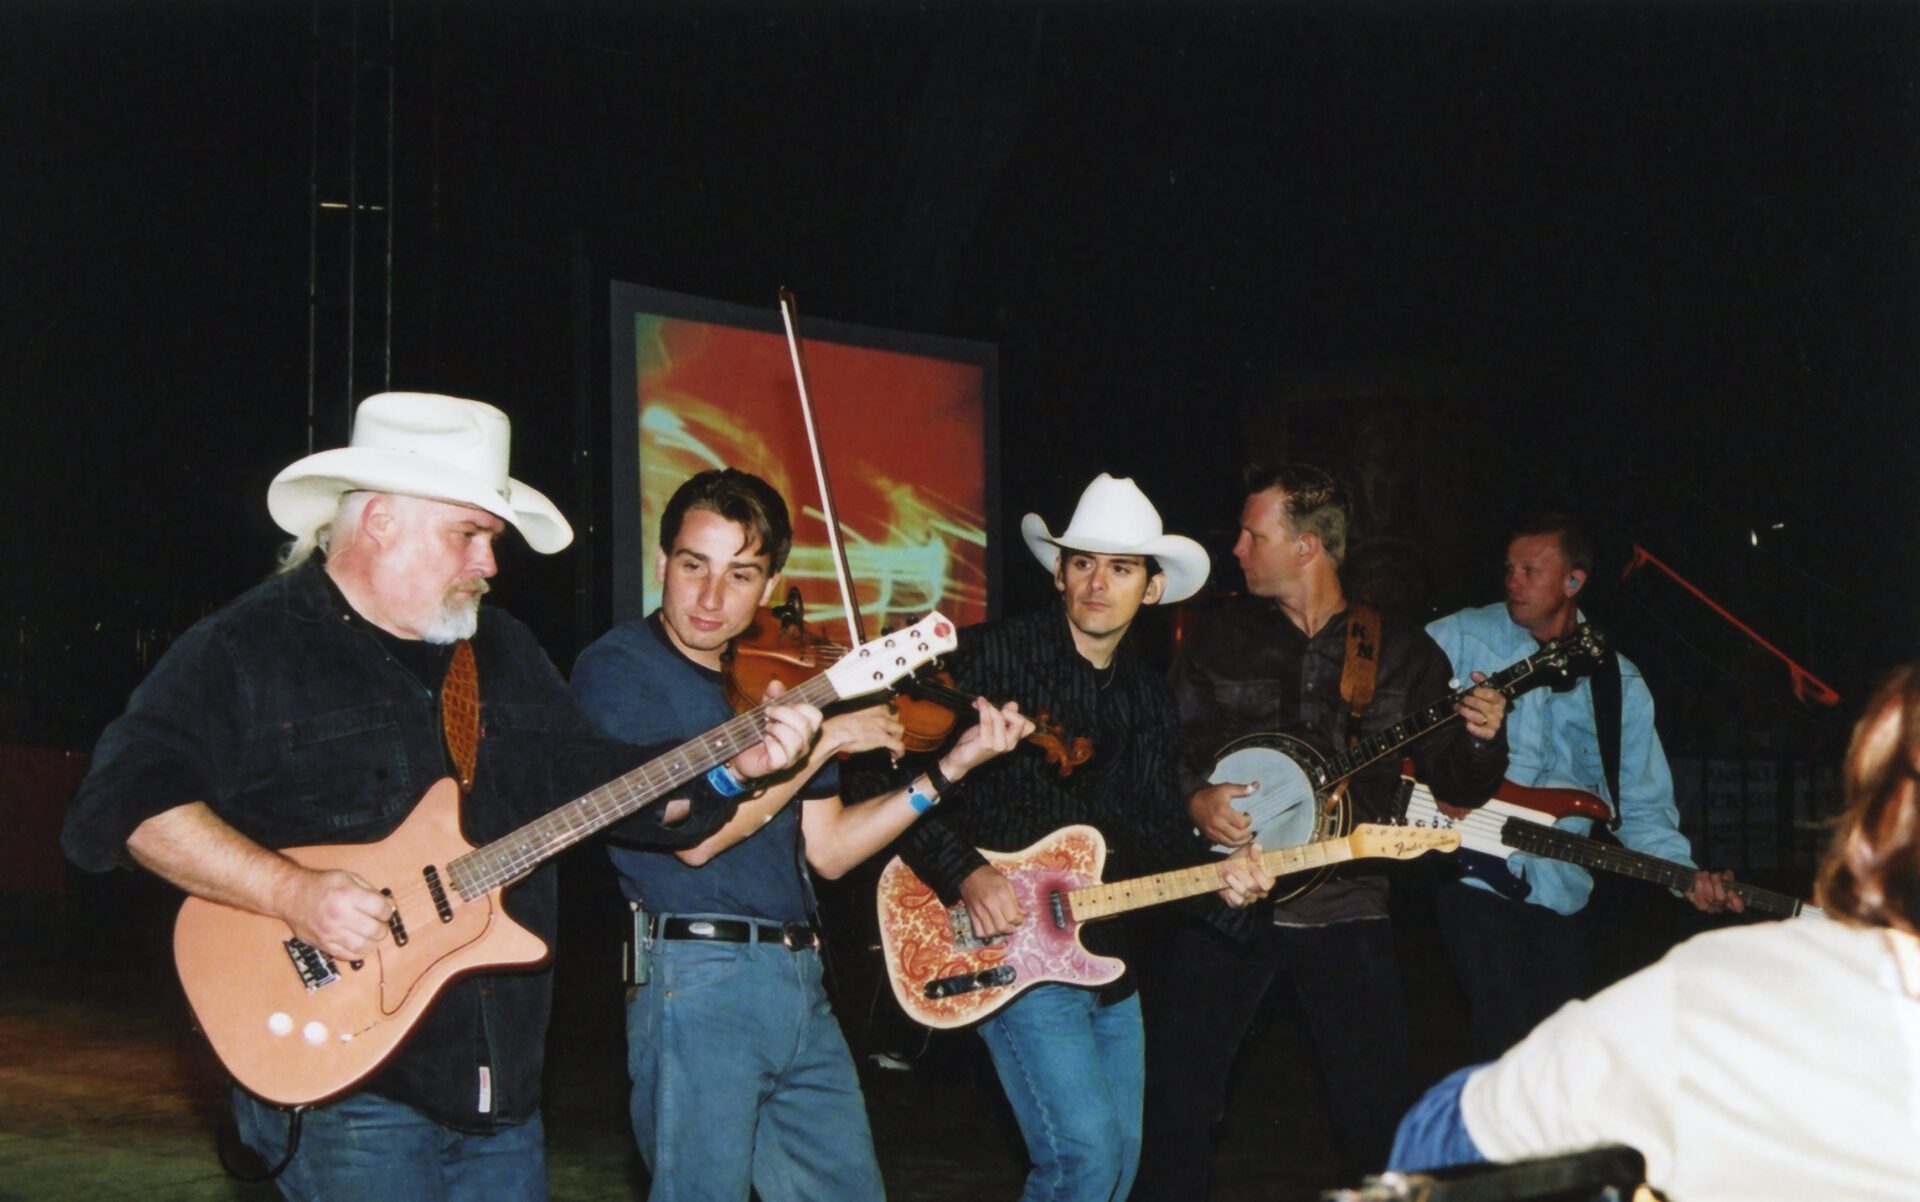
<instances>
[{"instance_id":1,"label":"fretted neck of the peach-coloured guitar with the white headstock","mask_svg":"<svg viewBox=\"0 0 1920 1202\"><path fill-rule=\"evenodd\" d=\"M839 691L826 676L814 676L781 693L781 705L831 705ZM755 747L764 737L764 720L755 707L728 722L689 739L666 755L647 760L626 776L576 797L561 808L528 822L520 829L493 839L486 847L447 864L447 876L463 897L472 901L488 889L509 885L538 868L545 858L628 818L647 805L666 797L685 781L728 762Z\"/></svg>"}]
</instances>

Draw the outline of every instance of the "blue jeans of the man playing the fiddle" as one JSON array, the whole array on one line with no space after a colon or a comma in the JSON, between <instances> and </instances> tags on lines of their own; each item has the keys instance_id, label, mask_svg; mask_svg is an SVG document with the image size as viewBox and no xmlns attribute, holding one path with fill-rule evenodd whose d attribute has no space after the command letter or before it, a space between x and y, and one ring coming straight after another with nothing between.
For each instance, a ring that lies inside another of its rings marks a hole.
<instances>
[{"instance_id":1,"label":"blue jeans of the man playing the fiddle","mask_svg":"<svg viewBox=\"0 0 1920 1202\"><path fill-rule=\"evenodd\" d=\"M885 1196L818 950L657 941L626 1064L655 1202L745 1202L749 1185L780 1202Z\"/></svg>"}]
</instances>

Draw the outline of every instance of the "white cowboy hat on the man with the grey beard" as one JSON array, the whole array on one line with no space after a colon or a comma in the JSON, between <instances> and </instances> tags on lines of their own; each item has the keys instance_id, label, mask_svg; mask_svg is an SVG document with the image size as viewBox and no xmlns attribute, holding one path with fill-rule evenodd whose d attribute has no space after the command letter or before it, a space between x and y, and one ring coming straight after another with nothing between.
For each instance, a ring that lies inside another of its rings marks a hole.
<instances>
[{"instance_id":1,"label":"white cowboy hat on the man with the grey beard","mask_svg":"<svg viewBox=\"0 0 1920 1202\"><path fill-rule=\"evenodd\" d=\"M342 493L392 492L486 509L526 545L553 555L574 541L553 501L507 476L507 415L432 392L382 392L361 401L349 445L294 463L267 486L267 511L294 536L332 520Z\"/></svg>"}]
</instances>

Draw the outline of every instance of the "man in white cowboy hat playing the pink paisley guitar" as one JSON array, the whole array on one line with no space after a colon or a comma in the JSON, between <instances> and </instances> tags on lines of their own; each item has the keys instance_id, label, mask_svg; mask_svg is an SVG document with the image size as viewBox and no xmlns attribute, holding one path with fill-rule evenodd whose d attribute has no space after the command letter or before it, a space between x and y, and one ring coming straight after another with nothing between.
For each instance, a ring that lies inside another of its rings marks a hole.
<instances>
[{"instance_id":1,"label":"man in white cowboy hat playing the pink paisley guitar","mask_svg":"<svg viewBox=\"0 0 1920 1202\"><path fill-rule=\"evenodd\" d=\"M950 657L954 682L1044 710L1069 735L1092 739L1094 753L1068 778L1031 751L1002 757L962 789L941 789L943 805L906 835L908 866L948 904L964 901L983 937L1044 918L1021 910L981 847L1020 851L1083 822L1106 837L1106 879L1210 858L1179 789L1173 695L1125 645L1142 605L1185 601L1206 584L1206 549L1165 534L1139 486L1108 474L1087 486L1058 536L1035 513L1020 530L1052 572L1060 607L964 630ZM1227 879L1229 904L1273 885L1250 854ZM1089 926L1085 943L1125 960L1127 927L1127 918ZM1140 1152L1144 1073L1133 977L1100 991L1039 985L979 1033L1033 1160L1023 1196L1125 1198Z\"/></svg>"}]
</instances>

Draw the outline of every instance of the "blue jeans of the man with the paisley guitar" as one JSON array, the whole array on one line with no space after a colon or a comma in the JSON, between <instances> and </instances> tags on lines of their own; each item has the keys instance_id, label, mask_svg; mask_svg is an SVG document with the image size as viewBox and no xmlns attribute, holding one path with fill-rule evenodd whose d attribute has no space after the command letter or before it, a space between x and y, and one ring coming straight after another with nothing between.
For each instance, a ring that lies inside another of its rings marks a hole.
<instances>
[{"instance_id":1,"label":"blue jeans of the man with the paisley guitar","mask_svg":"<svg viewBox=\"0 0 1920 1202\"><path fill-rule=\"evenodd\" d=\"M1146 1037L1140 998L1102 1006L1091 989L1037 985L979 1025L1020 1133L1021 1198L1108 1202L1140 1164Z\"/></svg>"}]
</instances>

